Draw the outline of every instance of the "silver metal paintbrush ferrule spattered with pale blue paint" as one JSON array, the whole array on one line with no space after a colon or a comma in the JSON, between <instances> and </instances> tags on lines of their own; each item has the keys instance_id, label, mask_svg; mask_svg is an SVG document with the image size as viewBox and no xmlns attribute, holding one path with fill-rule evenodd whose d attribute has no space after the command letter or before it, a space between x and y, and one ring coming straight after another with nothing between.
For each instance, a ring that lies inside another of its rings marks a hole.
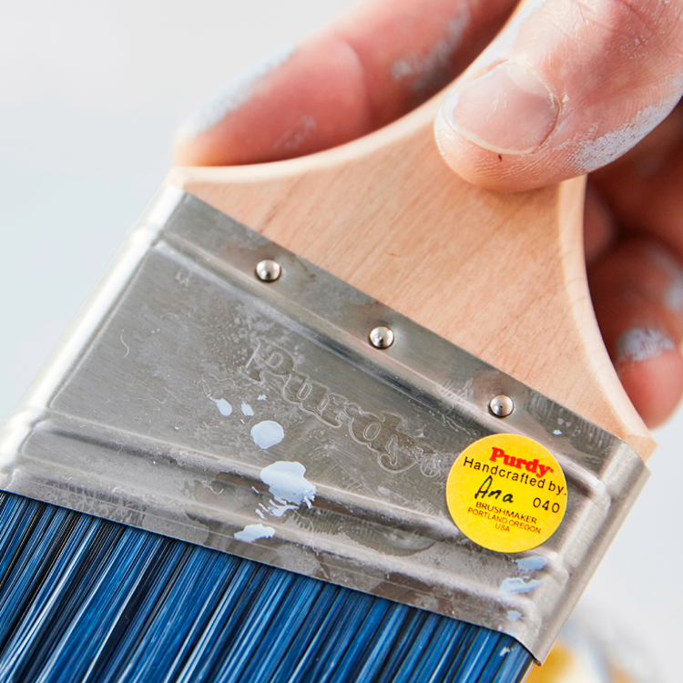
<instances>
[{"instance_id":1,"label":"silver metal paintbrush ferrule spattered with pale blue paint","mask_svg":"<svg viewBox=\"0 0 683 683\"><path fill-rule=\"evenodd\" d=\"M286 277L255 277L265 259ZM379 326L401 343L373 348ZM502 431L545 445L569 487L524 554L475 545L445 502L457 455ZM646 478L626 443L168 188L0 431L6 491L505 631L538 659Z\"/></svg>"}]
</instances>

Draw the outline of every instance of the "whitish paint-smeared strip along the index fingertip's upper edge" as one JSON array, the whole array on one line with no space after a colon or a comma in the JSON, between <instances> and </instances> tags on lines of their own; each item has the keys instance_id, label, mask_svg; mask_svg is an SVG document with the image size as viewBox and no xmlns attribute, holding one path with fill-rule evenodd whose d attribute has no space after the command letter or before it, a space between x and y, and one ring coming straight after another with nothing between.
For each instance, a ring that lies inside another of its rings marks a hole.
<instances>
[{"instance_id":1,"label":"whitish paint-smeared strip along the index fingertip's upper edge","mask_svg":"<svg viewBox=\"0 0 683 683\"><path fill-rule=\"evenodd\" d=\"M216 97L213 97L204 107L188 118L178 127L178 138L194 138L220 123L231 111L241 107L254 94L259 81L271 71L282 66L294 52L288 46L279 50L268 59L254 66L247 74L231 81Z\"/></svg>"}]
</instances>

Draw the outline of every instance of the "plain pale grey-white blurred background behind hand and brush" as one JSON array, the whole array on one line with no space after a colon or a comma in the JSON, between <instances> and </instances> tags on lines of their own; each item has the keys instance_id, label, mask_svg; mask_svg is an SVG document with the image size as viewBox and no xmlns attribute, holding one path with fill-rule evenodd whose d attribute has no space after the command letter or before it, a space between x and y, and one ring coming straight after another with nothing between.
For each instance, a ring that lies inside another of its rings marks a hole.
<instances>
[{"instance_id":1,"label":"plain pale grey-white blurred background behind hand and brush","mask_svg":"<svg viewBox=\"0 0 683 683\"><path fill-rule=\"evenodd\" d=\"M348 0L24 0L0 25L0 417L15 406L225 82ZM678 683L683 414L586 601Z\"/></svg>"}]
</instances>

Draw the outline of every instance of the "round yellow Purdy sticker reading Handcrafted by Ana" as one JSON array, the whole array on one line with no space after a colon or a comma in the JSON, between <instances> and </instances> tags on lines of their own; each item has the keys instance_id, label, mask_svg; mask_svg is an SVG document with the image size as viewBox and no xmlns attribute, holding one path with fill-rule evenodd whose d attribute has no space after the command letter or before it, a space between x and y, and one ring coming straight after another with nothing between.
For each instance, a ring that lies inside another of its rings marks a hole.
<instances>
[{"instance_id":1,"label":"round yellow Purdy sticker reading Handcrafted by Ana","mask_svg":"<svg viewBox=\"0 0 683 683\"><path fill-rule=\"evenodd\" d=\"M555 534L566 512L566 479L553 454L518 434L492 434L464 449L446 482L446 501L470 540L521 553Z\"/></svg>"}]
</instances>

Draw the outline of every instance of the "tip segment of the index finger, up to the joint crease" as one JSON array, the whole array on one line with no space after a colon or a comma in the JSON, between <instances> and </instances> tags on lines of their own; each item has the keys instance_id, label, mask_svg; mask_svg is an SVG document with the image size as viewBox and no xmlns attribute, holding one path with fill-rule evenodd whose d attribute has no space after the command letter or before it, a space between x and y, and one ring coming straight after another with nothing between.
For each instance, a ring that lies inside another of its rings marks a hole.
<instances>
[{"instance_id":1,"label":"tip segment of the index finger, up to the joint crease","mask_svg":"<svg viewBox=\"0 0 683 683\"><path fill-rule=\"evenodd\" d=\"M318 36L256 76L226 88L180 127L183 166L228 166L299 157L370 128L362 66L352 47Z\"/></svg>"}]
</instances>

